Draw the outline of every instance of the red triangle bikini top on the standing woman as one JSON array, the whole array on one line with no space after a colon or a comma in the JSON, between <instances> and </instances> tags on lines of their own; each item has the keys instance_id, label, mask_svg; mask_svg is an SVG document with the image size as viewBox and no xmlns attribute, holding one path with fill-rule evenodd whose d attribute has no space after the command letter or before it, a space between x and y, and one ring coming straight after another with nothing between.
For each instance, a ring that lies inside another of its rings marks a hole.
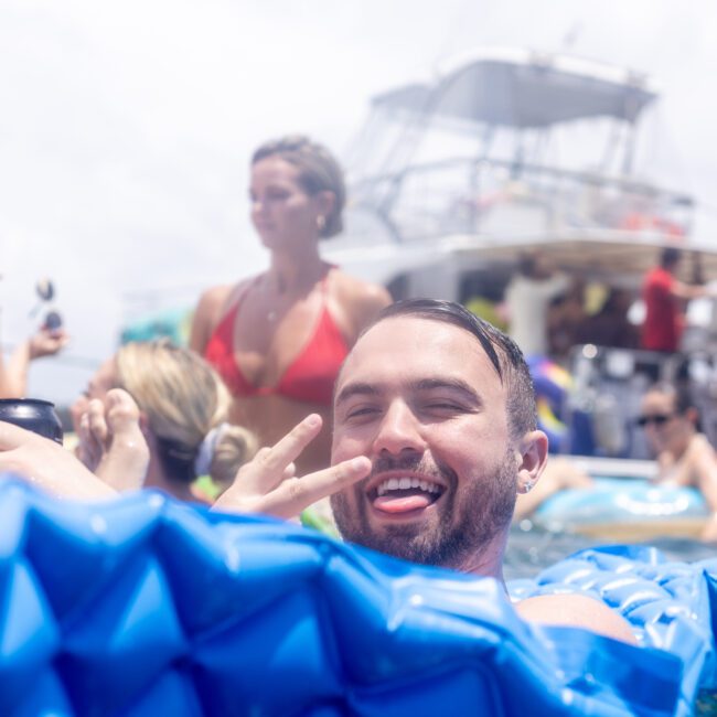
<instances>
[{"instance_id":1,"label":"red triangle bikini top on the standing woman","mask_svg":"<svg viewBox=\"0 0 717 717\"><path fill-rule=\"evenodd\" d=\"M291 362L276 386L255 386L242 373L234 354L234 325L242 299L224 315L212 333L204 357L216 368L233 396L280 395L295 400L330 406L333 384L339 368L349 353L349 346L329 313L324 295L321 315L313 335Z\"/></svg>"}]
</instances>

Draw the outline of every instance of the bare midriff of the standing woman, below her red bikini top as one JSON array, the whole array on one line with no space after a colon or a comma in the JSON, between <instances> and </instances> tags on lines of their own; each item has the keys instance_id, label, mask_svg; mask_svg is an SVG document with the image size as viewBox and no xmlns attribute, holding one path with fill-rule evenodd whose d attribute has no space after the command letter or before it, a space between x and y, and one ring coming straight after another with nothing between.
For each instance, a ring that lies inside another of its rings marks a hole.
<instances>
[{"instance_id":1,"label":"bare midriff of the standing woman, below her red bikini top","mask_svg":"<svg viewBox=\"0 0 717 717\"><path fill-rule=\"evenodd\" d=\"M306 475L328 468L331 462L330 406L292 400L280 395L246 396L234 399L231 420L239 426L250 426L259 446L274 446L309 414L320 414L323 428L296 460L297 475Z\"/></svg>"}]
</instances>

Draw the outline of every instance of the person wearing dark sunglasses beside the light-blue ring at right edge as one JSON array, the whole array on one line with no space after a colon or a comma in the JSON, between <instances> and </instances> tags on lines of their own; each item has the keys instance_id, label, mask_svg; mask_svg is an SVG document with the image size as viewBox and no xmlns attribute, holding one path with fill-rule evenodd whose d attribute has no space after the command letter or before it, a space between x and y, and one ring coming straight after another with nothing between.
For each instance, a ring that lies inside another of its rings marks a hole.
<instances>
[{"instance_id":1,"label":"person wearing dark sunglasses beside the light-blue ring at right edge","mask_svg":"<svg viewBox=\"0 0 717 717\"><path fill-rule=\"evenodd\" d=\"M702 432L699 410L683 382L661 382L642 398L635 424L657 458L660 483L693 485L711 513L703 539L717 541L717 456Z\"/></svg>"}]
</instances>

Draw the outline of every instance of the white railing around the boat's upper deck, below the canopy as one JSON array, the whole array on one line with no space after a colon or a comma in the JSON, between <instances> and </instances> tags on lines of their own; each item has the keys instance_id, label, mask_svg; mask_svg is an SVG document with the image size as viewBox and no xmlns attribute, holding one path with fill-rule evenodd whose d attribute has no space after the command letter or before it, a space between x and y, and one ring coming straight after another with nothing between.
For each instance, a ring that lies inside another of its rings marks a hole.
<instances>
[{"instance_id":1,"label":"white railing around the boat's upper deck, below the canopy","mask_svg":"<svg viewBox=\"0 0 717 717\"><path fill-rule=\"evenodd\" d=\"M633 176L495 158L451 158L352 185L400 240L447 234L525 236L565 229L689 233L693 200Z\"/></svg>"}]
</instances>

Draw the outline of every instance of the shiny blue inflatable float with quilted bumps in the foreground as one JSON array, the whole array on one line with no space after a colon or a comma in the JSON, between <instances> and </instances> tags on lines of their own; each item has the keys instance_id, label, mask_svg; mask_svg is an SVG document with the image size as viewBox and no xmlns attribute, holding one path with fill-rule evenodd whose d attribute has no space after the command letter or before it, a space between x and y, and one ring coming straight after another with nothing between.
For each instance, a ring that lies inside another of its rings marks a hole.
<instances>
[{"instance_id":1,"label":"shiny blue inflatable float with quilted bumps in the foreground","mask_svg":"<svg viewBox=\"0 0 717 717\"><path fill-rule=\"evenodd\" d=\"M300 526L2 480L0 714L688 715L715 678L715 572L621 548L511 586L595 595L635 648Z\"/></svg>"}]
</instances>

